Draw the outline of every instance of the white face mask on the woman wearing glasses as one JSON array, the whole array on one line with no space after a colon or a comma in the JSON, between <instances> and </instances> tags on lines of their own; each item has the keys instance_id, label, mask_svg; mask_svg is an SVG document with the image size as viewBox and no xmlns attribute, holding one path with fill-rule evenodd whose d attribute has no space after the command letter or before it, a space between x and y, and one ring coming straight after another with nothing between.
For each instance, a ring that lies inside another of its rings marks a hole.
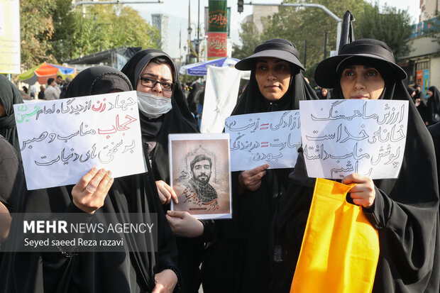
<instances>
[{"instance_id":1,"label":"white face mask on the woman wearing glasses","mask_svg":"<svg viewBox=\"0 0 440 293\"><path fill-rule=\"evenodd\" d=\"M145 92L136 92L138 94L138 106L148 118L158 118L167 114L172 109L171 99L163 96L154 96Z\"/></svg>"}]
</instances>

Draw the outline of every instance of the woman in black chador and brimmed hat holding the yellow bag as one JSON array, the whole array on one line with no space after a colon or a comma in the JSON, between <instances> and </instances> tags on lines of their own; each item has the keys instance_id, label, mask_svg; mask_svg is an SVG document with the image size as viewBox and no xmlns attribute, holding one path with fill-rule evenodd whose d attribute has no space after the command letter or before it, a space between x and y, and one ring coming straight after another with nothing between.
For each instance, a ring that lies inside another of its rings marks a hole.
<instances>
[{"instance_id":1,"label":"woman in black chador and brimmed hat holding the yellow bag","mask_svg":"<svg viewBox=\"0 0 440 293\"><path fill-rule=\"evenodd\" d=\"M402 82L407 74L396 65L390 46L380 40L360 39L319 63L314 77L319 86L334 88L334 99L409 101L399 177L373 180L353 173L342 183L356 183L350 197L378 230L380 255L373 292L439 292L439 189L434 145ZM290 179L274 221L273 247L278 258L272 263L270 292L290 292L312 202L315 179L307 177L302 152Z\"/></svg>"}]
</instances>

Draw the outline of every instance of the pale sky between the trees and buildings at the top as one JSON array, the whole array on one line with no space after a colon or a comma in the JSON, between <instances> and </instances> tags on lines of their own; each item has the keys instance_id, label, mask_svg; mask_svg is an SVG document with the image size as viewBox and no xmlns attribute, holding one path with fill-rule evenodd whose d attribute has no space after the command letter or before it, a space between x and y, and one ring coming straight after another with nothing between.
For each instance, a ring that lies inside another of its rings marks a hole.
<instances>
[{"instance_id":1,"label":"pale sky between the trees and buildings at the top","mask_svg":"<svg viewBox=\"0 0 440 293\"><path fill-rule=\"evenodd\" d=\"M197 38L197 4L200 2L200 27L204 26L204 7L208 6L208 0L162 0L163 3L154 4L130 4L134 9L139 11L141 16L151 23L151 14L163 13L169 16L168 22L168 48L167 53L171 57L180 57L185 55L183 46L187 42L188 33L188 4L191 4L191 27L192 39ZM231 7L231 40L233 43L240 43L238 31L240 30L240 23L243 19L252 14L252 6L245 5L243 13L237 12L237 0L227 0L228 7ZM335 0L337 1L337 0ZM409 12L412 18L412 23L416 23L419 19L420 9L419 0L367 0L374 1L380 7L387 4L387 6L394 6L397 9L402 9ZM148 2L153 2L148 0ZM245 0L245 4L250 0ZM253 3L260 4L280 4L281 0L254 0ZM348 8L349 9L349 8ZM342 16L340 16L342 18ZM356 16L355 16L356 18ZM336 25L336 23L335 23ZM181 31L181 33L180 33ZM181 35L181 38L180 38ZM180 40L180 42L179 42ZM181 44L179 49L179 43Z\"/></svg>"}]
</instances>

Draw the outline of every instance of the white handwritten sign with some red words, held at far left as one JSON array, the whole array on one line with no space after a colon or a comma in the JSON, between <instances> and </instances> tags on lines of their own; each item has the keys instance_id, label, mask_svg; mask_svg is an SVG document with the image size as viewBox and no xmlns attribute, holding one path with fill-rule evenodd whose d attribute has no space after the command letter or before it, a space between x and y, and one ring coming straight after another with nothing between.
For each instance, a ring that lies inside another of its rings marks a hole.
<instances>
[{"instance_id":1,"label":"white handwritten sign with some red words, held at far left","mask_svg":"<svg viewBox=\"0 0 440 293\"><path fill-rule=\"evenodd\" d=\"M145 172L135 91L13 108L28 189L76 184L92 167Z\"/></svg>"}]
</instances>

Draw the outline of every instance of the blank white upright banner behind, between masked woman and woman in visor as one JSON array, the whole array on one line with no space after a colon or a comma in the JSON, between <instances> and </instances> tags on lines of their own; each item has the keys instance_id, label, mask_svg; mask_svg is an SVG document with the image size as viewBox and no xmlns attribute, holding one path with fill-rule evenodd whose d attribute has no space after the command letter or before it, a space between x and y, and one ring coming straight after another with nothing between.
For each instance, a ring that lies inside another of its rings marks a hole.
<instances>
[{"instance_id":1,"label":"blank white upright banner behind, between masked woman and woman in visor","mask_svg":"<svg viewBox=\"0 0 440 293\"><path fill-rule=\"evenodd\" d=\"M224 119L236 106L240 72L233 67L208 66L204 92L202 133L221 133Z\"/></svg>"}]
</instances>

